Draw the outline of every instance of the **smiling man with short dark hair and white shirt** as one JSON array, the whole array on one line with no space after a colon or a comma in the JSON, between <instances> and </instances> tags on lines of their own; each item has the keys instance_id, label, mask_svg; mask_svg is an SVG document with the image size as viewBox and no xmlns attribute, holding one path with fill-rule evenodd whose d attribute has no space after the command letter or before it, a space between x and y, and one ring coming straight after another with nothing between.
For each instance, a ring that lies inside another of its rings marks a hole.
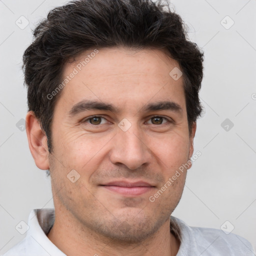
<instances>
[{"instance_id":1,"label":"smiling man with short dark hair and white shirt","mask_svg":"<svg viewBox=\"0 0 256 256\"><path fill-rule=\"evenodd\" d=\"M29 148L54 210L33 210L4 255L253 255L238 235L170 216L191 167L202 61L161 3L50 11L23 62Z\"/></svg>"}]
</instances>

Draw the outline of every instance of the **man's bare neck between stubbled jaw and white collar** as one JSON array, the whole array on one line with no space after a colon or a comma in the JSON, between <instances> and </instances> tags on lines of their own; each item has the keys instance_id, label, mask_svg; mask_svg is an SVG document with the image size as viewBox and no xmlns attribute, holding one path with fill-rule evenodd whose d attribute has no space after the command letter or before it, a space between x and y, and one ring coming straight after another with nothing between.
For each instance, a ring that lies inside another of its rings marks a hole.
<instances>
[{"instance_id":1,"label":"man's bare neck between stubbled jaw and white collar","mask_svg":"<svg viewBox=\"0 0 256 256\"><path fill-rule=\"evenodd\" d=\"M60 217L56 212L55 222L47 236L63 253L70 256L174 256L177 254L180 244L179 240L170 232L169 220L144 241L125 244L124 241L109 240L109 238L82 226L81 223L77 223L70 216L61 214Z\"/></svg>"}]
</instances>

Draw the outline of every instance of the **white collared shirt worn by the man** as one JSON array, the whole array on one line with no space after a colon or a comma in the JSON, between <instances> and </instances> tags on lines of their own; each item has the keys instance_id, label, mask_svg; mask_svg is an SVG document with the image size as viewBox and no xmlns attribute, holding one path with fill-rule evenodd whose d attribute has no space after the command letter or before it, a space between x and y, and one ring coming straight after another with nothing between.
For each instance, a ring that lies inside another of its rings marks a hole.
<instances>
[{"instance_id":1,"label":"white collared shirt worn by the man","mask_svg":"<svg viewBox=\"0 0 256 256\"><path fill-rule=\"evenodd\" d=\"M47 237L54 223L54 209L34 209L28 220L29 229L23 240L3 256L66 256ZM243 237L220 229L186 225L170 217L170 231L180 240L176 256L254 256L251 244Z\"/></svg>"}]
</instances>

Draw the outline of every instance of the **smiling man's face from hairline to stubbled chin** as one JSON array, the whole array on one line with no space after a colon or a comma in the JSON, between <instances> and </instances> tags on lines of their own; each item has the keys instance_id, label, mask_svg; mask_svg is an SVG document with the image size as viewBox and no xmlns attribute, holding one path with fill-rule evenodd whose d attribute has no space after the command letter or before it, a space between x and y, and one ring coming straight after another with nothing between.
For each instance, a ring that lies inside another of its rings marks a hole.
<instances>
[{"instance_id":1,"label":"smiling man's face from hairline to stubbled chin","mask_svg":"<svg viewBox=\"0 0 256 256\"><path fill-rule=\"evenodd\" d=\"M83 229L142 240L168 221L186 171L171 178L193 151L182 76L161 50L103 48L81 65L90 52L66 64L63 79L75 75L54 108L54 206Z\"/></svg>"}]
</instances>

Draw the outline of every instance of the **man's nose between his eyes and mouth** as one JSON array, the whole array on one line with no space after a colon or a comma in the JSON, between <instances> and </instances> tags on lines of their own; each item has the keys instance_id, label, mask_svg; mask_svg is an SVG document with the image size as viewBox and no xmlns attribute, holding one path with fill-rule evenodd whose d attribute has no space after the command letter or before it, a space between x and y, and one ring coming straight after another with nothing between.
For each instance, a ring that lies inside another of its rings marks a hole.
<instances>
[{"instance_id":1,"label":"man's nose between his eyes and mouth","mask_svg":"<svg viewBox=\"0 0 256 256\"><path fill-rule=\"evenodd\" d=\"M150 156L145 135L136 125L131 125L126 131L117 128L110 151L110 161L113 164L124 164L134 170L143 164L147 165Z\"/></svg>"}]
</instances>

